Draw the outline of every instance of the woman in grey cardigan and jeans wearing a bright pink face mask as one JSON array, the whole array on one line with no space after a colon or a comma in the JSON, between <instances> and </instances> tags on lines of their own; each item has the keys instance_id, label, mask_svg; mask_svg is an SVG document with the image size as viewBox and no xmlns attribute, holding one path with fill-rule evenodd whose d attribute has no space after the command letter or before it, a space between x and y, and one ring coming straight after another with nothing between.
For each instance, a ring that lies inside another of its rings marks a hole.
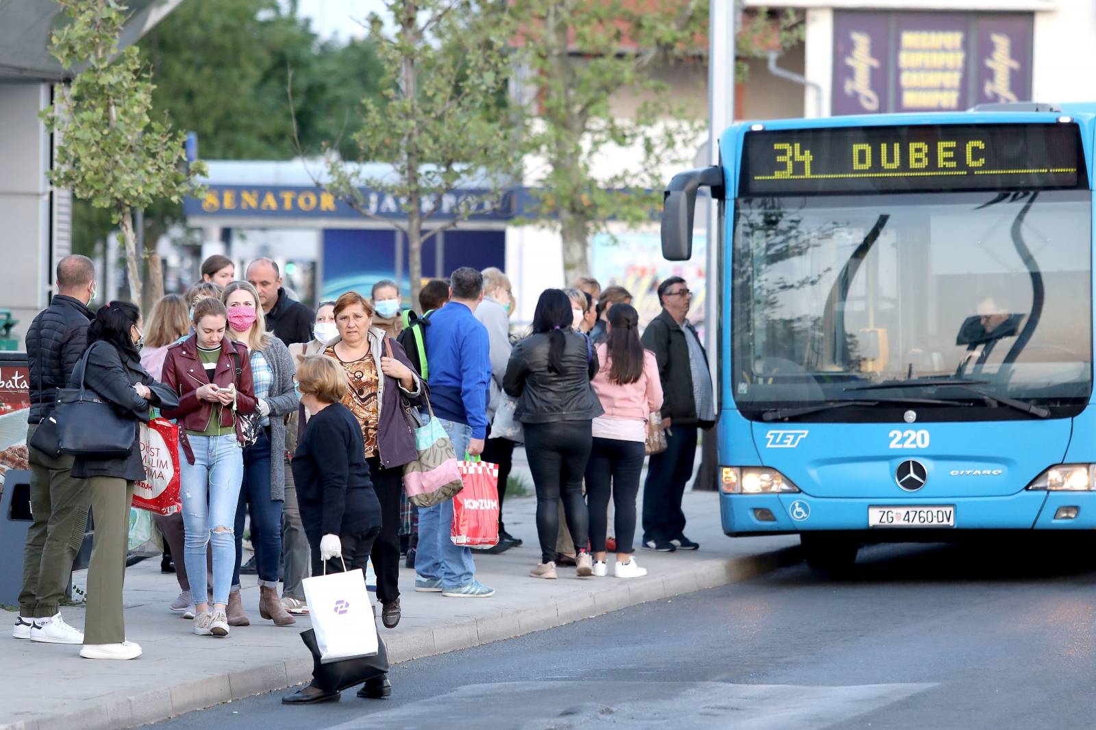
<instances>
[{"instance_id":1,"label":"woman in grey cardigan and jeans wearing a bright pink face mask","mask_svg":"<svg viewBox=\"0 0 1096 730\"><path fill-rule=\"evenodd\" d=\"M240 601L240 559L243 518L251 510L251 545L259 569L259 615L278 626L296 619L277 595L282 567L282 502L285 499L285 417L297 410L293 358L281 340L266 332L259 294L247 282L225 287L221 301L228 309L228 335L248 345L259 415L258 438L243 448L243 484L236 511L236 570L229 593L229 626L250 624Z\"/></svg>"}]
</instances>

